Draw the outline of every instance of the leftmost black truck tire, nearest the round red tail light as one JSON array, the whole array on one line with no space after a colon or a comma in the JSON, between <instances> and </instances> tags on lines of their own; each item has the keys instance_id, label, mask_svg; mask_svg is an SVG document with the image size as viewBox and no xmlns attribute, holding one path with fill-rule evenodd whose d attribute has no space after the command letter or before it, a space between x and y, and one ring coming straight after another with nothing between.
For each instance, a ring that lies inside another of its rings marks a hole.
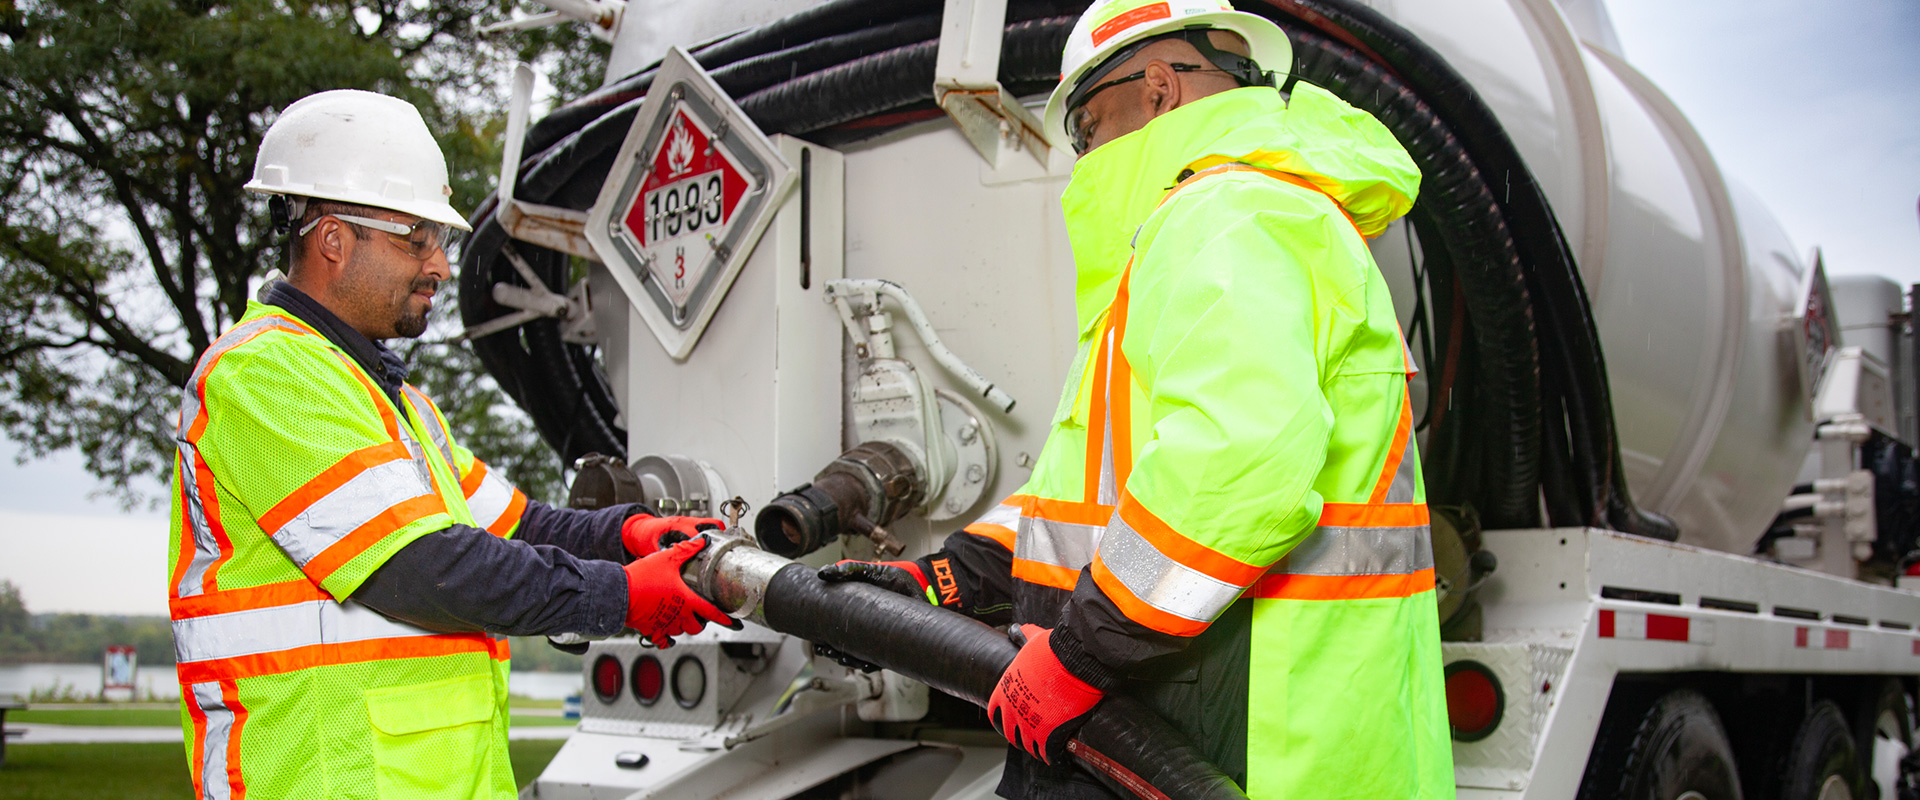
<instances>
[{"instance_id":1,"label":"leftmost black truck tire, nearest the round red tail light","mask_svg":"<svg viewBox=\"0 0 1920 800\"><path fill-rule=\"evenodd\" d=\"M1638 716L1609 714L1599 737L1582 798L1741 800L1734 744L1693 689L1661 694Z\"/></svg>"}]
</instances>

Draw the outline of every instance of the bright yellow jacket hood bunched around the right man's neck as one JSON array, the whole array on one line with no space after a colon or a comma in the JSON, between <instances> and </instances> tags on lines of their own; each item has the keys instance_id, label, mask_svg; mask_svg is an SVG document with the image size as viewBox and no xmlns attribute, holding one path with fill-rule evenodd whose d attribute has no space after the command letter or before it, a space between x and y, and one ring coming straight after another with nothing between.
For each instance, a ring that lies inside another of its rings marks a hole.
<instances>
[{"instance_id":1,"label":"bright yellow jacket hood bunched around the right man's neck","mask_svg":"<svg viewBox=\"0 0 1920 800\"><path fill-rule=\"evenodd\" d=\"M1298 175L1379 236L1419 196L1421 173L1373 115L1298 82L1292 100L1263 86L1200 98L1083 155L1060 198L1077 269L1085 332L1114 297L1133 236L1185 171L1246 163Z\"/></svg>"}]
</instances>

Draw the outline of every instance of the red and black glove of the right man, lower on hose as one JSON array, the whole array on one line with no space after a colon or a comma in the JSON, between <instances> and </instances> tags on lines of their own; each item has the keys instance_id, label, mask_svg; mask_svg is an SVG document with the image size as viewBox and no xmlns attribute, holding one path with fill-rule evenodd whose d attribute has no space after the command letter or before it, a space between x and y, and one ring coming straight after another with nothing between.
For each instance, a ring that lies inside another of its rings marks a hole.
<instances>
[{"instance_id":1,"label":"red and black glove of the right man, lower on hose","mask_svg":"<svg viewBox=\"0 0 1920 800\"><path fill-rule=\"evenodd\" d=\"M1068 741L1081 723L1092 716L1092 708L1106 693L1087 681L1073 677L1060 658L1054 656L1052 629L1041 625L1020 625L1027 643L1006 666L1000 685L993 687L987 700L987 719L1014 746L1027 750L1041 762L1054 764L1068 752Z\"/></svg>"}]
</instances>

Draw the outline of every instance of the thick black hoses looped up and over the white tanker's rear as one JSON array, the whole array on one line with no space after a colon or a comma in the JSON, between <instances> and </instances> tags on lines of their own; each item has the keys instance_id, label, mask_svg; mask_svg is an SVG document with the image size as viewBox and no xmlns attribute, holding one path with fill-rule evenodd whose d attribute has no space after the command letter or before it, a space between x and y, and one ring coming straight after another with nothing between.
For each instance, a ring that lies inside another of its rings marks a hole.
<instances>
[{"instance_id":1,"label":"thick black hoses looped up and over the white tanker's rear","mask_svg":"<svg viewBox=\"0 0 1920 800\"><path fill-rule=\"evenodd\" d=\"M1044 90L1077 2L1016 2L1002 48L1002 82ZM1434 315L1457 292L1457 403L1430 434L1430 495L1471 503L1490 528L1538 526L1538 491L1553 524L1601 524L1672 537L1672 526L1632 506L1584 288L1538 184L1492 111L1432 50L1350 0L1265 0L1252 10L1290 31L1296 73L1375 113L1423 167L1411 215L1428 242ZM845 127L900 111L931 113L939 2L835 0L783 21L695 48L716 81L770 132L854 140L885 127ZM866 25L856 31L845 27ZM795 46L785 46L797 42ZM781 79L781 73L787 79ZM586 209L639 107L653 69L616 81L541 119L528 134L520 198ZM1486 176L1500 175L1496 201ZM520 282L499 247L492 203L476 213L463 257L468 324L499 317L493 282ZM566 259L518 246L549 286ZM474 341L493 372L564 459L624 453L618 409L593 357L561 341L555 320ZM1432 370L1434 365L1428 365ZM1436 393L1436 403L1442 397Z\"/></svg>"}]
</instances>

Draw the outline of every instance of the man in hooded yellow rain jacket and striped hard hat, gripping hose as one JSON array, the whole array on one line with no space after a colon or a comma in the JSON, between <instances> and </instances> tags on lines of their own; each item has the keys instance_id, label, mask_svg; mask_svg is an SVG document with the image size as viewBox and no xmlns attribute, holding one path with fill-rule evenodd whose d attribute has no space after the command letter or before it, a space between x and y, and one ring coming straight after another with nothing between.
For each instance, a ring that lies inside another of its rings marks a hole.
<instances>
[{"instance_id":1,"label":"man in hooded yellow rain jacket and striped hard hat, gripping hose","mask_svg":"<svg viewBox=\"0 0 1920 800\"><path fill-rule=\"evenodd\" d=\"M1064 750L1110 693L1254 798L1453 794L1413 366L1365 242L1419 173L1290 63L1219 0L1094 2L1046 104L1081 153L1079 349L1033 476L939 553L824 570L1021 624L1002 796L1108 796Z\"/></svg>"}]
</instances>

